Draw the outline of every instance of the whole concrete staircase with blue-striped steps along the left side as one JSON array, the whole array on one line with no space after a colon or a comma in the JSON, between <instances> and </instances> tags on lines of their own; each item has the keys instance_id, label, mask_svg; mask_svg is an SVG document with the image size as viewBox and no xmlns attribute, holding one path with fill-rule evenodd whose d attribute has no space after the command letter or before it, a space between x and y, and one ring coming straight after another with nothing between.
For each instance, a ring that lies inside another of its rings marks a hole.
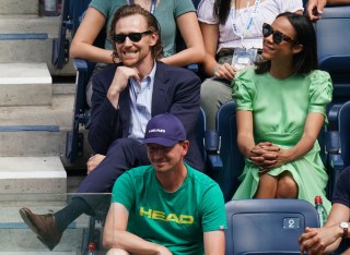
<instances>
[{"instance_id":1,"label":"whole concrete staircase with blue-striped steps along the left side","mask_svg":"<svg viewBox=\"0 0 350 255\"><path fill-rule=\"evenodd\" d=\"M65 158L75 85L52 84L52 76L75 71L71 62L63 70L51 64L59 24L59 16L38 16L38 0L0 0L0 255L82 254L86 216L49 252L19 215L23 206L43 214L62 208L66 169L85 167L86 158L74 165Z\"/></svg>"}]
</instances>

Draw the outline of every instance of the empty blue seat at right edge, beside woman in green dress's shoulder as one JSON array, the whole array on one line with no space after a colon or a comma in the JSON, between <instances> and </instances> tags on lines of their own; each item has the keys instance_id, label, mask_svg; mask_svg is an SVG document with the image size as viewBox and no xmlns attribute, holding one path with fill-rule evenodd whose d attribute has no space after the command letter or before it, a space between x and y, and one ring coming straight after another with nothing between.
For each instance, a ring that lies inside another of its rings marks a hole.
<instances>
[{"instance_id":1,"label":"empty blue seat at right edge, beside woman in green dress's shoulder","mask_svg":"<svg viewBox=\"0 0 350 255\"><path fill-rule=\"evenodd\" d=\"M337 113L350 98L350 5L327 7L315 23L319 69L327 71L334 84L328 106L329 129L337 129Z\"/></svg>"}]
</instances>

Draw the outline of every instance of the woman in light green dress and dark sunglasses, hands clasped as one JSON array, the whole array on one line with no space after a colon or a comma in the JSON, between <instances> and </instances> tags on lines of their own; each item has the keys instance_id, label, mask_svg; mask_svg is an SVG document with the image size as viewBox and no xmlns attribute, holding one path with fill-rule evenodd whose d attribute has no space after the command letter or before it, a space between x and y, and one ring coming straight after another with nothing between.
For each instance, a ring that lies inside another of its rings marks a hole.
<instances>
[{"instance_id":1,"label":"woman in light green dress and dark sunglasses, hands clasped","mask_svg":"<svg viewBox=\"0 0 350 255\"><path fill-rule=\"evenodd\" d=\"M318 133L331 100L328 73L317 70L316 36L303 15L282 13L264 24L262 62L233 81L237 143L245 156L234 199L325 197L327 173Z\"/></svg>"}]
</instances>

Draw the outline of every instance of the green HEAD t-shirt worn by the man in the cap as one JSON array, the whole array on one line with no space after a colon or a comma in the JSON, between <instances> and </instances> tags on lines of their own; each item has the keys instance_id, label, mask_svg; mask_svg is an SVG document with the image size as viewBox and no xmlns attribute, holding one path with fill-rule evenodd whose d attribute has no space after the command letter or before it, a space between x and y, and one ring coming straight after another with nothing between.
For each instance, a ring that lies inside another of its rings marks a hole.
<instances>
[{"instance_id":1,"label":"green HEAD t-shirt worn by the man in the cap","mask_svg":"<svg viewBox=\"0 0 350 255\"><path fill-rule=\"evenodd\" d=\"M219 185L186 165L182 186L167 193L152 166L133 168L114 184L112 203L129 211L128 231L166 246L174 255L205 254L203 232L226 228Z\"/></svg>"}]
</instances>

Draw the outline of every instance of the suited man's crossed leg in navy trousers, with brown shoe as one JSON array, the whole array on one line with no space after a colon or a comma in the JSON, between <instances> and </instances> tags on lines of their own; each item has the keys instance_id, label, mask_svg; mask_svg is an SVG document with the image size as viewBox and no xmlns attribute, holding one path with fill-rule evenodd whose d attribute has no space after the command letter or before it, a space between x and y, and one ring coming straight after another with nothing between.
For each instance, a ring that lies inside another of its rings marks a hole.
<instances>
[{"instance_id":1,"label":"suited man's crossed leg in navy trousers, with brown shoe","mask_svg":"<svg viewBox=\"0 0 350 255\"><path fill-rule=\"evenodd\" d=\"M136 139L117 139L109 147L106 158L80 184L78 193L110 192L115 180L126 170L149 163L144 145L140 146L140 142ZM82 214L93 215L105 199L101 199L101 196L82 194L54 215L35 215L27 208L22 208L20 214L42 242L52 250L74 219Z\"/></svg>"}]
</instances>

